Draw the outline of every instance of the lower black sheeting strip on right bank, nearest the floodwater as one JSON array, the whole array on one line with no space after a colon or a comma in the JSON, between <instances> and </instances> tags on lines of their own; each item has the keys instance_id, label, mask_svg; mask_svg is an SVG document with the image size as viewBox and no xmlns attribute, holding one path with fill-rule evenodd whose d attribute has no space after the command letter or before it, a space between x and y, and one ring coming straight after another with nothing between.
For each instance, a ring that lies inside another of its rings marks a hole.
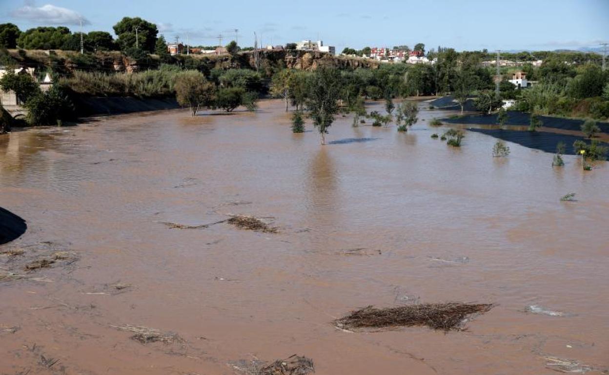
<instances>
[{"instance_id":1,"label":"lower black sheeting strip on right bank, nearest the floodwater","mask_svg":"<svg viewBox=\"0 0 609 375\"><path fill-rule=\"evenodd\" d=\"M565 154L575 155L573 143L576 140L583 140L590 143L590 140L583 137L571 136L569 134L558 134L544 131L518 131L504 129L476 129L470 128L469 131L479 132L487 136L495 137L507 142L513 142L535 150L541 150L546 153L555 153L556 146L559 142L565 143Z\"/></svg>"}]
</instances>

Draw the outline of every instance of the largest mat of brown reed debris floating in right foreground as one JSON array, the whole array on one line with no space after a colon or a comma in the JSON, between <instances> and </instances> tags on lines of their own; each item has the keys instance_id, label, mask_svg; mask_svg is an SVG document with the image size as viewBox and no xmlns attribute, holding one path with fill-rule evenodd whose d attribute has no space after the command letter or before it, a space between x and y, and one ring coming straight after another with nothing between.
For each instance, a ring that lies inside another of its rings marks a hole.
<instances>
[{"instance_id":1,"label":"largest mat of brown reed debris floating in right foreground","mask_svg":"<svg viewBox=\"0 0 609 375\"><path fill-rule=\"evenodd\" d=\"M373 306L356 310L334 321L337 328L389 328L429 326L433 329L459 330L470 314L483 314L493 304L423 303L396 308L376 309Z\"/></svg>"}]
</instances>

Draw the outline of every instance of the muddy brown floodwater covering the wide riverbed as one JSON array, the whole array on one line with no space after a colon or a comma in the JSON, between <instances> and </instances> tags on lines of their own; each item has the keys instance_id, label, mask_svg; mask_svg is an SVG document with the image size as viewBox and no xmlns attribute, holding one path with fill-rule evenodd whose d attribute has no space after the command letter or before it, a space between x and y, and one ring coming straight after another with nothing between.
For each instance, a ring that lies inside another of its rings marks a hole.
<instances>
[{"instance_id":1,"label":"muddy brown floodwater covering the wide riverbed","mask_svg":"<svg viewBox=\"0 0 609 375\"><path fill-rule=\"evenodd\" d=\"M0 136L0 207L28 224L0 246L0 373L233 374L292 354L319 374L606 371L607 163L493 158L474 132L451 148L426 126L443 115L407 134L338 117L326 146L275 100ZM164 224L237 214L279 232ZM54 263L18 266L38 255ZM496 306L466 331L332 325L446 301Z\"/></svg>"}]
</instances>

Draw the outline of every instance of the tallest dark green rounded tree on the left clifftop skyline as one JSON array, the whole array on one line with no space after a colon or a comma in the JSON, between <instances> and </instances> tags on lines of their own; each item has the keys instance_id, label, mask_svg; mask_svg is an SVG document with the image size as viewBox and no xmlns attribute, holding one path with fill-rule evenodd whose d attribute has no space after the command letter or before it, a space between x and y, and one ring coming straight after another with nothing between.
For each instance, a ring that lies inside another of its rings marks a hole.
<instances>
[{"instance_id":1,"label":"tallest dark green rounded tree on the left clifftop skyline","mask_svg":"<svg viewBox=\"0 0 609 375\"><path fill-rule=\"evenodd\" d=\"M141 19L139 17L130 18L124 17L113 27L114 33L118 35L118 43L121 50L127 50L132 47L139 47L148 53L153 53L157 43L158 29L157 25ZM137 43L136 43L137 29Z\"/></svg>"}]
</instances>

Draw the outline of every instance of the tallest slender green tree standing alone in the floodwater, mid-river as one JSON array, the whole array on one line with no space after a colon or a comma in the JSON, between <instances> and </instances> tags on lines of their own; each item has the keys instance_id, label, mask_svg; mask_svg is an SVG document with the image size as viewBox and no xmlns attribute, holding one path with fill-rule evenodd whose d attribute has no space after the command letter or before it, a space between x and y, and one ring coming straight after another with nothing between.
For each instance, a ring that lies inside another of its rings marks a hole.
<instances>
[{"instance_id":1,"label":"tallest slender green tree standing alone in the floodwater, mid-river","mask_svg":"<svg viewBox=\"0 0 609 375\"><path fill-rule=\"evenodd\" d=\"M322 137L322 145L326 144L325 135L334 122L334 115L339 108L337 100L340 94L340 74L333 67L321 67L314 72L309 84L309 94L306 106L311 114L313 125Z\"/></svg>"}]
</instances>

